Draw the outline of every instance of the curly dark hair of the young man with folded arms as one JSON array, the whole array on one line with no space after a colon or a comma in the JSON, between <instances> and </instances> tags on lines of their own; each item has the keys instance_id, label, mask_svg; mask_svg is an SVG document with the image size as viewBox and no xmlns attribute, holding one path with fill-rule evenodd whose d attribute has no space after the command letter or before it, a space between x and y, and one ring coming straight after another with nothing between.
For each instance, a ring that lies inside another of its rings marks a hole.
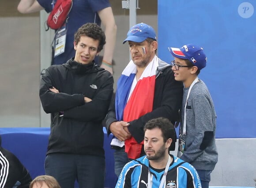
<instances>
[{"instance_id":1,"label":"curly dark hair of the young man with folded arms","mask_svg":"<svg viewBox=\"0 0 256 188\"><path fill-rule=\"evenodd\" d=\"M99 41L98 52L103 49L106 43L106 36L102 28L96 23L86 23L75 32L74 41L78 44L82 36L87 36Z\"/></svg>"}]
</instances>

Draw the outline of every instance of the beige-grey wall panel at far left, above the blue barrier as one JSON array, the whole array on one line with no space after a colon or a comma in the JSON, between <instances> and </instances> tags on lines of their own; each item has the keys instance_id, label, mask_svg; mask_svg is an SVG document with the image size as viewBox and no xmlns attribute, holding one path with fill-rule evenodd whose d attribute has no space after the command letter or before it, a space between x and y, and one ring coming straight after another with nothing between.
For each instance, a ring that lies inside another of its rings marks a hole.
<instances>
[{"instance_id":1,"label":"beige-grey wall panel at far left, above the blue barrier","mask_svg":"<svg viewBox=\"0 0 256 188\"><path fill-rule=\"evenodd\" d=\"M39 127L39 17L0 17L0 127Z\"/></svg>"}]
</instances>

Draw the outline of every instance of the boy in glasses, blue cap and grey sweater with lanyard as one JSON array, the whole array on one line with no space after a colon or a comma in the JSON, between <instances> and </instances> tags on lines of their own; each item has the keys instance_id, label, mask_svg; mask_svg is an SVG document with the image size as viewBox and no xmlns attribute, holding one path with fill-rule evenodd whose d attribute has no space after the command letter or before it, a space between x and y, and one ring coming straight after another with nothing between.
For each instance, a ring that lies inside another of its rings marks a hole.
<instances>
[{"instance_id":1,"label":"boy in glasses, blue cap and grey sweater with lanyard","mask_svg":"<svg viewBox=\"0 0 256 188\"><path fill-rule=\"evenodd\" d=\"M207 86L197 77L207 57L203 48L192 44L169 51L174 57L171 64L175 80L184 84L177 156L196 168L202 188L208 188L218 152L214 105Z\"/></svg>"}]
</instances>

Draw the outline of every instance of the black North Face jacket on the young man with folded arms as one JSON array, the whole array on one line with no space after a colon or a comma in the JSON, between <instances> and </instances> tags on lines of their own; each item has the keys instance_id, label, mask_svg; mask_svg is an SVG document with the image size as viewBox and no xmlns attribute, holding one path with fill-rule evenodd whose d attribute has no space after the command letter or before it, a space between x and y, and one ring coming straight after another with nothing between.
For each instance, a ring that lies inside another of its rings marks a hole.
<instances>
[{"instance_id":1,"label":"black North Face jacket on the young man with folded arms","mask_svg":"<svg viewBox=\"0 0 256 188\"><path fill-rule=\"evenodd\" d=\"M94 63L73 59L46 69L40 83L40 99L52 113L47 154L89 154L104 157L102 120L113 93L113 76ZM55 87L59 93L49 88ZM84 102L84 97L92 99Z\"/></svg>"}]
</instances>

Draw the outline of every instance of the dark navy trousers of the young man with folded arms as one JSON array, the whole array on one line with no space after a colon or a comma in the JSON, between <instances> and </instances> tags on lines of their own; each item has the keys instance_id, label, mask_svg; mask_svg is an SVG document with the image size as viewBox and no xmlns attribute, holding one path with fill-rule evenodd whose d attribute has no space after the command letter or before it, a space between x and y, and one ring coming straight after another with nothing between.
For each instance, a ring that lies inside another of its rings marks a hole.
<instances>
[{"instance_id":1,"label":"dark navy trousers of the young man with folded arms","mask_svg":"<svg viewBox=\"0 0 256 188\"><path fill-rule=\"evenodd\" d=\"M48 154L45 174L56 178L61 188L104 188L105 159L92 155Z\"/></svg>"}]
</instances>

